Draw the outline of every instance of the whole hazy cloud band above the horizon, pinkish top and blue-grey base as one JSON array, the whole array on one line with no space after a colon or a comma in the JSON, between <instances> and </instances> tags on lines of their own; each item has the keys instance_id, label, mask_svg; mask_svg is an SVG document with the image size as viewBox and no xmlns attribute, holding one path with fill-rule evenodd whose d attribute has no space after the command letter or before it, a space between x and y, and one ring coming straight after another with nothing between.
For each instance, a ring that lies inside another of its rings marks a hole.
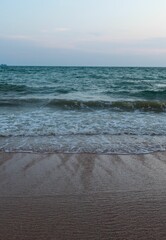
<instances>
[{"instance_id":1,"label":"whole hazy cloud band above the horizon, pinkish top and blue-grey base","mask_svg":"<svg viewBox=\"0 0 166 240\"><path fill-rule=\"evenodd\" d=\"M83 40L18 34L0 36L0 52L0 62L15 65L165 66L166 38L115 40L102 35Z\"/></svg>"}]
</instances>

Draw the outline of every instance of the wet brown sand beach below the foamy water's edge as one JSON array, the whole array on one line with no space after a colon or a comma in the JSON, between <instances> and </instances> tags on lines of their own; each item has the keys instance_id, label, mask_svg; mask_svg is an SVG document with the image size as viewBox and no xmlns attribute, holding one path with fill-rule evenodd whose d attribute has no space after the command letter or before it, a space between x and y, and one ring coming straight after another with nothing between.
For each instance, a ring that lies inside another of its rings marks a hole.
<instances>
[{"instance_id":1,"label":"wet brown sand beach below the foamy water's edge","mask_svg":"<svg viewBox=\"0 0 166 240\"><path fill-rule=\"evenodd\" d=\"M166 239L166 153L0 153L0 240Z\"/></svg>"}]
</instances>

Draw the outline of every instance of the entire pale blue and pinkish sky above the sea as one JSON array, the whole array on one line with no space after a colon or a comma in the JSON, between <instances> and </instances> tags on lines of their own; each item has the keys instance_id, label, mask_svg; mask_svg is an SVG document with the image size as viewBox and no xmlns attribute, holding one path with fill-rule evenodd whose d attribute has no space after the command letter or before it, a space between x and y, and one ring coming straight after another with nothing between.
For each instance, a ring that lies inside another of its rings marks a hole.
<instances>
[{"instance_id":1,"label":"entire pale blue and pinkish sky above the sea","mask_svg":"<svg viewBox=\"0 0 166 240\"><path fill-rule=\"evenodd\" d=\"M166 0L0 0L0 64L166 67Z\"/></svg>"}]
</instances>

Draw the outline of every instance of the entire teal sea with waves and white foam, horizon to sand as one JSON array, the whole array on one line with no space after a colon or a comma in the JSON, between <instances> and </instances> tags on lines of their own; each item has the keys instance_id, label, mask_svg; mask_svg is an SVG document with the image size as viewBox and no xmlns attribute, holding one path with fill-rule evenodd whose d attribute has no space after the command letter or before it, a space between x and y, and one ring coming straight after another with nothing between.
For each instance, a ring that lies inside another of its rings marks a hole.
<instances>
[{"instance_id":1,"label":"entire teal sea with waves and white foam, horizon to sand","mask_svg":"<svg viewBox=\"0 0 166 240\"><path fill-rule=\"evenodd\" d=\"M0 67L0 150L166 150L166 68Z\"/></svg>"}]
</instances>

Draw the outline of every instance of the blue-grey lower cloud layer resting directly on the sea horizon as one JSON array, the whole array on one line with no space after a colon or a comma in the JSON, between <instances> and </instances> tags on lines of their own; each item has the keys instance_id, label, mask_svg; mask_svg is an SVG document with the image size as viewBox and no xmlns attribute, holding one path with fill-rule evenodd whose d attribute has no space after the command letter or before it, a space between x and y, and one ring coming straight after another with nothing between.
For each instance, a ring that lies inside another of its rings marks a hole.
<instances>
[{"instance_id":1,"label":"blue-grey lower cloud layer resting directly on the sea horizon","mask_svg":"<svg viewBox=\"0 0 166 240\"><path fill-rule=\"evenodd\" d=\"M12 44L11 44L12 42ZM100 53L77 49L48 48L26 41L0 40L0 62L9 65L58 66L165 66L166 54L133 52Z\"/></svg>"}]
</instances>

